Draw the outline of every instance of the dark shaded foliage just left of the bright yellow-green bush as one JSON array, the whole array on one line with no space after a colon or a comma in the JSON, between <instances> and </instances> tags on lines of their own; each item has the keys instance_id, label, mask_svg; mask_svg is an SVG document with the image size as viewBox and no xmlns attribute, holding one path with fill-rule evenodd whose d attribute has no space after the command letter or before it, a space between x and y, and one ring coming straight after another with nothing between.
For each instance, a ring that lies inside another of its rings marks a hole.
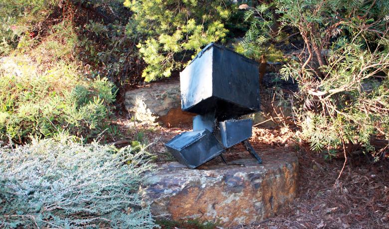
<instances>
[{"instance_id":1,"label":"dark shaded foliage just left of the bright yellow-green bush","mask_svg":"<svg viewBox=\"0 0 389 229\"><path fill-rule=\"evenodd\" d=\"M131 11L123 0L72 0L78 24L77 59L91 66L98 74L107 77L117 87L138 83L143 63L139 58L135 39L127 36L126 25ZM90 14L93 15L90 15ZM88 18L88 20L85 20Z\"/></svg>"}]
</instances>

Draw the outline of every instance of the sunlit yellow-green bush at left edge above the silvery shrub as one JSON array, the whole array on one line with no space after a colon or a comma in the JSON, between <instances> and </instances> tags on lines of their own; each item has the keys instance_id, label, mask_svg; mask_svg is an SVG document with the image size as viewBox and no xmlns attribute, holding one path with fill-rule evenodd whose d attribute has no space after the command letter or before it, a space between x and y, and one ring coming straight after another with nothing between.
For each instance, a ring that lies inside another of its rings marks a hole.
<instances>
[{"instance_id":1,"label":"sunlit yellow-green bush at left edge above the silvery shrub","mask_svg":"<svg viewBox=\"0 0 389 229\"><path fill-rule=\"evenodd\" d=\"M0 70L0 138L19 143L62 131L96 137L109 125L115 93L106 79L80 77L77 67L58 63L39 72L22 57L3 58ZM13 66L14 68L6 66Z\"/></svg>"}]
</instances>

